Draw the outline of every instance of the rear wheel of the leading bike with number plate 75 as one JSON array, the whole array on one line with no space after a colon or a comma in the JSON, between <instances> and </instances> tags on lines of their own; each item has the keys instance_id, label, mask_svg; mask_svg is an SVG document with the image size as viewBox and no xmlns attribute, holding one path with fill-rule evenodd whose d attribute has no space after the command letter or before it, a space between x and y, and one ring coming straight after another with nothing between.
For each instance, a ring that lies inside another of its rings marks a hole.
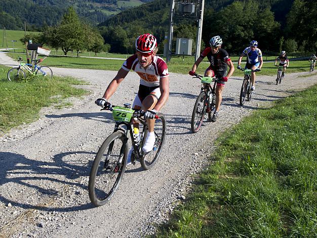
<instances>
[{"instance_id":1,"label":"rear wheel of the leading bike with number plate 75","mask_svg":"<svg viewBox=\"0 0 317 238\"><path fill-rule=\"evenodd\" d=\"M149 170L152 168L155 163L157 162L157 159L160 157L165 137L166 137L166 119L165 116L162 113L157 113L157 118L155 120L154 124L154 134L155 134L155 144L153 149L144 155L144 157L140 158L141 166L144 170ZM147 135L147 133L145 133ZM146 136L144 136L143 141L146 139ZM141 143L143 144L143 143Z\"/></svg>"}]
</instances>

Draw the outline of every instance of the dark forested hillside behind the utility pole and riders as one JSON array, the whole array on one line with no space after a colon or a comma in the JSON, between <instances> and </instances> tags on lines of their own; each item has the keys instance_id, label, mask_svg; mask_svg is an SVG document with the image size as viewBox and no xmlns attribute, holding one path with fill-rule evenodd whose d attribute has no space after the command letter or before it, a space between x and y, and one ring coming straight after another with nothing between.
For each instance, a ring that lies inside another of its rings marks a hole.
<instances>
[{"instance_id":1,"label":"dark forested hillside behind the utility pole and riders","mask_svg":"<svg viewBox=\"0 0 317 238\"><path fill-rule=\"evenodd\" d=\"M142 7L126 10L99 25L111 52L133 53L133 42L138 34L151 32L163 53L165 32L169 29L169 0L154 0ZM267 54L282 49L289 53L316 51L316 4L310 0L206 0L202 47L209 39L220 35L223 47L231 54L239 54L252 39ZM196 41L195 20L178 18L174 24L176 38ZM174 44L175 45L175 44Z\"/></svg>"}]
</instances>

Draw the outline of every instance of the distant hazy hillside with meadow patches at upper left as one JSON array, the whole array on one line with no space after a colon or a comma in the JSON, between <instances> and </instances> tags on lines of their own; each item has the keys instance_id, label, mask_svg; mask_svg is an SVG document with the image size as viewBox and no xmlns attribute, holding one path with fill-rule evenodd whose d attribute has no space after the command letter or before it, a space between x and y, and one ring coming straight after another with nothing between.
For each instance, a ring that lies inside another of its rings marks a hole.
<instances>
[{"instance_id":1,"label":"distant hazy hillside with meadow patches at upper left","mask_svg":"<svg viewBox=\"0 0 317 238\"><path fill-rule=\"evenodd\" d=\"M110 16L151 0L1 0L0 27L11 30L36 30L56 25L68 7L72 6L81 18L96 25Z\"/></svg>"}]
</instances>

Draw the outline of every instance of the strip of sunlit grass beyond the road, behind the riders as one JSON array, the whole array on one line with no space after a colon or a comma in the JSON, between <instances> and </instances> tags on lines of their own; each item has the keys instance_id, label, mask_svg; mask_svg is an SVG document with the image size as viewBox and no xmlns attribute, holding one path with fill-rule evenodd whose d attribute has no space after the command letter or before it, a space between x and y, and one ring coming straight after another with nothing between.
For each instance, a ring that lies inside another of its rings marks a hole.
<instances>
[{"instance_id":1,"label":"strip of sunlit grass beyond the road, behind the riders","mask_svg":"<svg viewBox=\"0 0 317 238\"><path fill-rule=\"evenodd\" d=\"M24 59L26 62L25 54L18 53L8 53L8 56L16 59L18 56ZM122 57L123 55L121 55ZM65 67L65 68L87 68L87 69L102 69L102 70L118 70L121 68L123 60L110 60L110 59L98 59L98 58L77 58L77 57L63 57L63 56L49 56L43 61L43 65L53 66L53 67ZM184 73L187 74L193 65L193 57L173 57L171 62L168 63L169 71L173 73ZM245 63L242 64L244 66ZM199 65L197 73L204 74L204 71L209 66L207 59ZM236 67L236 64L234 64ZM291 61L290 67L287 68L287 73L294 72L305 72L309 71L309 62L308 61ZM278 71L278 68L274 66L274 63L267 62L263 63L261 72L258 72L257 75L275 75ZM242 76L243 72L235 69L233 76Z\"/></svg>"}]
</instances>

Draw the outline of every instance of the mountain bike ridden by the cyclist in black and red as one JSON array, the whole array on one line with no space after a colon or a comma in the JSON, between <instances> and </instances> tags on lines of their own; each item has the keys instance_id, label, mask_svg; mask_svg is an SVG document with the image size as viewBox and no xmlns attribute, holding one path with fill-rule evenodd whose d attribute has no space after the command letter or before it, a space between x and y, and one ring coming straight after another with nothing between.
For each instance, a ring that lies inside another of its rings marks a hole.
<instances>
[{"instance_id":1,"label":"mountain bike ridden by the cyclist in black and red","mask_svg":"<svg viewBox=\"0 0 317 238\"><path fill-rule=\"evenodd\" d=\"M204 77L196 73L193 78L199 78L202 82L201 93L196 99L191 115L191 131L196 133L203 124L206 112L208 113L208 122L211 122L212 112L216 108L216 83L220 81L217 78ZM215 82L213 87L211 87L212 82Z\"/></svg>"}]
</instances>

